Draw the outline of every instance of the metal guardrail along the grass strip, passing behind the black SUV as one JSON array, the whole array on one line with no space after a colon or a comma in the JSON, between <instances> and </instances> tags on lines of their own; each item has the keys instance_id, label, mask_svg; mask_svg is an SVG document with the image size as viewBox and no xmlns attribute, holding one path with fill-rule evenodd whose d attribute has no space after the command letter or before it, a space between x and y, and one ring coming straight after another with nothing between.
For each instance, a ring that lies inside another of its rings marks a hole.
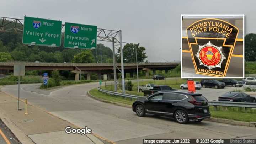
<instances>
[{"instance_id":1,"label":"metal guardrail along the grass strip, passing behind the black SUV","mask_svg":"<svg viewBox=\"0 0 256 144\"><path fill-rule=\"evenodd\" d=\"M108 90L103 90L101 88L97 88L98 91L105 92L107 94L111 95L117 95L117 96L122 96L122 97L129 97L129 98L145 98L145 96L135 96L135 95L130 95L130 94L123 94L120 92L114 92L114 91L108 91ZM226 106L226 107L245 107L245 108L256 108L256 103L249 103L249 102L219 102L219 101L208 101L208 104L211 106Z\"/></svg>"}]
</instances>

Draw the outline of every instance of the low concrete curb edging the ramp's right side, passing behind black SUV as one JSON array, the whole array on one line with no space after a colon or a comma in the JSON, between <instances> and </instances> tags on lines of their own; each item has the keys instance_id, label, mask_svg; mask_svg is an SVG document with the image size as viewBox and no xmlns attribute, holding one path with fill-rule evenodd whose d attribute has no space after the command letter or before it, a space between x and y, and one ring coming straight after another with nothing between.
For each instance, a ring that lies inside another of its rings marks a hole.
<instances>
[{"instance_id":1,"label":"low concrete curb edging the ramp's right side, passing behind black SUV","mask_svg":"<svg viewBox=\"0 0 256 144\"><path fill-rule=\"evenodd\" d=\"M126 104L119 103L119 102L112 102L112 101L108 101L108 100L103 100L101 98L95 97L95 96L90 94L90 91L88 91L87 94L88 94L89 97L94 98L95 100L98 100L98 101L101 101L101 102L111 103L111 104L122 106L122 107L132 108L132 106L130 106L130 105L126 105ZM239 125L239 126L256 127L256 122L242 122L242 121L234 121L234 120L231 120L231 119L221 119L221 118L212 118L212 117L211 118L206 118L204 120L205 121L210 121L210 122L218 122L218 123Z\"/></svg>"}]
</instances>

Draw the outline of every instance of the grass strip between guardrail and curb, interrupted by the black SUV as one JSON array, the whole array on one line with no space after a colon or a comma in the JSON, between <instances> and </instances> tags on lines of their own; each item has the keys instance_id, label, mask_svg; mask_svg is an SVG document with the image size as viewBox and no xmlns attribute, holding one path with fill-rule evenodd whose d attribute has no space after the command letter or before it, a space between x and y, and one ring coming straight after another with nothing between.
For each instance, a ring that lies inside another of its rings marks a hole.
<instances>
[{"instance_id":1,"label":"grass strip between guardrail and curb, interrupted by the black SUV","mask_svg":"<svg viewBox=\"0 0 256 144\"><path fill-rule=\"evenodd\" d=\"M135 99L130 100L130 98L108 95L98 91L96 88L90 90L90 94L103 100L124 103L127 105L132 105L132 103L135 101ZM214 118L231 119L244 122L256 121L256 110L251 108L247 108L247 110L245 110L244 108L237 107L218 107L216 111L214 110L214 106L210 106L210 113Z\"/></svg>"}]
</instances>

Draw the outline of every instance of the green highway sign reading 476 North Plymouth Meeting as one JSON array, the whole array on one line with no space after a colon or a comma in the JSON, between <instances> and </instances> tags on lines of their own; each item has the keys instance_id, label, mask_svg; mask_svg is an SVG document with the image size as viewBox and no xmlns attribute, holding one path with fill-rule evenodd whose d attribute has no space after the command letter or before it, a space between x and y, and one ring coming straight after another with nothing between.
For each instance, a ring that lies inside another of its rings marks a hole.
<instances>
[{"instance_id":1,"label":"green highway sign reading 476 North Plymouth Meeting","mask_svg":"<svg viewBox=\"0 0 256 144\"><path fill-rule=\"evenodd\" d=\"M65 23L65 48L96 48L97 26Z\"/></svg>"}]
</instances>

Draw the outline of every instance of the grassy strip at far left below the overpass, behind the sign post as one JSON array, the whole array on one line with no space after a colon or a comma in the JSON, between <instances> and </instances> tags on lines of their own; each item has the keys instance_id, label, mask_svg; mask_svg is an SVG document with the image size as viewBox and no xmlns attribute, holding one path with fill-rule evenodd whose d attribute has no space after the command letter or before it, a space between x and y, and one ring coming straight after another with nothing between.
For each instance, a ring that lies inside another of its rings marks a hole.
<instances>
[{"instance_id":1,"label":"grassy strip at far left below the overpass, behind the sign post","mask_svg":"<svg viewBox=\"0 0 256 144\"><path fill-rule=\"evenodd\" d=\"M20 84L33 84L33 83L41 83L42 77L41 76L21 76L20 77ZM15 85L18 84L18 77L17 76L7 76L3 79L0 79L0 85Z\"/></svg>"}]
</instances>

